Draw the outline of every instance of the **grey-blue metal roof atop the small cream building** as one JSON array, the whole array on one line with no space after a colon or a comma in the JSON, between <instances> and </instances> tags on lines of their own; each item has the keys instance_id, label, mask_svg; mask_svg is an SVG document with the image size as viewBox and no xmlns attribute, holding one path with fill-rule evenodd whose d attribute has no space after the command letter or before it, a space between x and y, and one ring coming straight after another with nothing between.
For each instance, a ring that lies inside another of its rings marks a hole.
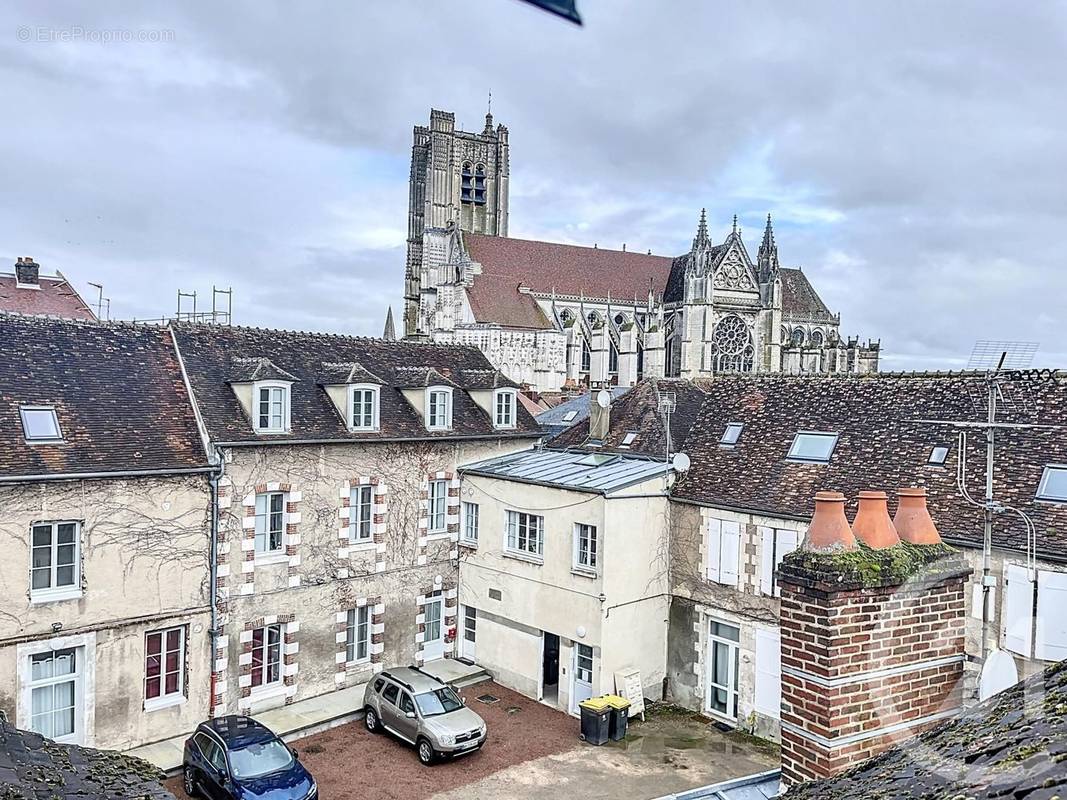
<instances>
[{"instance_id":1,"label":"grey-blue metal roof atop the small cream building","mask_svg":"<svg viewBox=\"0 0 1067 800\"><path fill-rule=\"evenodd\" d=\"M462 467L468 475L560 486L579 492L609 494L662 476L669 468L662 461L568 450L526 450Z\"/></svg>"}]
</instances>

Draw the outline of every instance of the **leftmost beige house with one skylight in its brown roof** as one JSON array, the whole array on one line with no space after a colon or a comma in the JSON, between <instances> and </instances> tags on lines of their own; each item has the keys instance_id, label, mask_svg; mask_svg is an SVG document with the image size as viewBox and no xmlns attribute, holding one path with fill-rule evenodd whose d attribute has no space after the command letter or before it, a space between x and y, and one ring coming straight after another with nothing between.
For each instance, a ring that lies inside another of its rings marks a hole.
<instances>
[{"instance_id":1,"label":"leftmost beige house with one skylight in its brown roof","mask_svg":"<svg viewBox=\"0 0 1067 800\"><path fill-rule=\"evenodd\" d=\"M169 333L0 315L0 709L126 749L207 714L211 467Z\"/></svg>"}]
</instances>

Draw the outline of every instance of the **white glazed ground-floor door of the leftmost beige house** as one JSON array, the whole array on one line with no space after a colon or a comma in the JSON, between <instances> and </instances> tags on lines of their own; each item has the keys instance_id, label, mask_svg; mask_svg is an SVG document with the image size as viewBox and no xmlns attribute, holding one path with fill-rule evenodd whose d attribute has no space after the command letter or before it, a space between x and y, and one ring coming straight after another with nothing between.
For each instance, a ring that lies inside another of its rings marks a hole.
<instances>
[{"instance_id":1,"label":"white glazed ground-floor door of the leftmost beige house","mask_svg":"<svg viewBox=\"0 0 1067 800\"><path fill-rule=\"evenodd\" d=\"M57 741L84 741L83 653L80 647L68 647L30 656L31 731Z\"/></svg>"}]
</instances>

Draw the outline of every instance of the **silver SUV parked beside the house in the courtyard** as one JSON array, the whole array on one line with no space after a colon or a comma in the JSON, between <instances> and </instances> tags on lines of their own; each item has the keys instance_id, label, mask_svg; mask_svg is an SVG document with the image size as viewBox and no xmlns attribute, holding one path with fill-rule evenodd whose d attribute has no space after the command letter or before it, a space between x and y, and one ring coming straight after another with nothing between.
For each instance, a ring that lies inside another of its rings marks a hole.
<instances>
[{"instance_id":1,"label":"silver SUV parked beside the house in the courtyard","mask_svg":"<svg viewBox=\"0 0 1067 800\"><path fill-rule=\"evenodd\" d=\"M364 723L388 731L418 751L423 764L473 753L485 743L485 722L452 689L417 667L379 673L363 695Z\"/></svg>"}]
</instances>

